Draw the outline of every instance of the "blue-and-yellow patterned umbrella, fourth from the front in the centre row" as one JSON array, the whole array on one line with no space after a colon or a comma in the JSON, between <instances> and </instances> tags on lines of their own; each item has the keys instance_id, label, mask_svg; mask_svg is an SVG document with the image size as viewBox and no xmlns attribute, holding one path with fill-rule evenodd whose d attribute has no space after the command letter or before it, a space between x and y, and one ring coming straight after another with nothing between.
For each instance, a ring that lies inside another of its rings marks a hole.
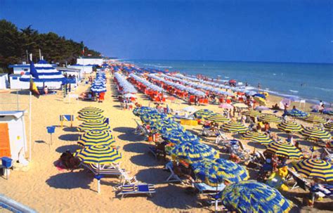
<instances>
[{"instance_id":1,"label":"blue-and-yellow patterned umbrella, fourth from the front in the centre row","mask_svg":"<svg viewBox=\"0 0 333 213\"><path fill-rule=\"evenodd\" d=\"M197 143L199 142L199 138L190 133L190 131L183 131L181 129L173 129L171 131L166 131L162 134L162 138L165 141L169 141L171 143Z\"/></svg>"}]
</instances>

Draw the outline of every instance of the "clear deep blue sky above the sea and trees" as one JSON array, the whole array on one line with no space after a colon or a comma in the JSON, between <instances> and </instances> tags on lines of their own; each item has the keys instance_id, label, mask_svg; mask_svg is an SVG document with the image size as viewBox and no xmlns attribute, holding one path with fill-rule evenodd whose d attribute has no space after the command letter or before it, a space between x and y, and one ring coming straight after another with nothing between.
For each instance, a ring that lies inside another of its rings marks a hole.
<instances>
[{"instance_id":1,"label":"clear deep blue sky above the sea and trees","mask_svg":"<svg viewBox=\"0 0 333 213\"><path fill-rule=\"evenodd\" d=\"M119 58L333 63L332 2L0 0L0 18Z\"/></svg>"}]
</instances>

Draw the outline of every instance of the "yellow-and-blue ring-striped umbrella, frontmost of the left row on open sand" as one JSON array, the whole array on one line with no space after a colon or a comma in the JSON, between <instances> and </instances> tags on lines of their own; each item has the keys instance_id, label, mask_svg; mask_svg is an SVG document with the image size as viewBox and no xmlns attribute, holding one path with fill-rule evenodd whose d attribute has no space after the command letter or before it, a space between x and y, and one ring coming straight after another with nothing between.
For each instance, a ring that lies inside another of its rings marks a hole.
<instances>
[{"instance_id":1,"label":"yellow-and-blue ring-striped umbrella, frontmost of the left row on open sand","mask_svg":"<svg viewBox=\"0 0 333 213\"><path fill-rule=\"evenodd\" d=\"M86 146L74 155L86 164L112 164L122 158L118 150L110 146Z\"/></svg>"}]
</instances>

